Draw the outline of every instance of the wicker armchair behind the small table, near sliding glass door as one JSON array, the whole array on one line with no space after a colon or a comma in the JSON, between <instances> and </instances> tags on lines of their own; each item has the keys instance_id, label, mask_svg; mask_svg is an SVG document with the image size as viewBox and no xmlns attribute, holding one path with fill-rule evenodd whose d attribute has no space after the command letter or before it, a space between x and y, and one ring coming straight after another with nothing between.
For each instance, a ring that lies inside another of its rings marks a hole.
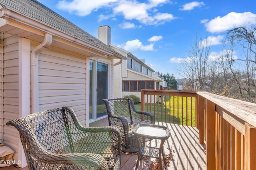
<instances>
[{"instance_id":1,"label":"wicker armchair behind the small table, near sliding glass door","mask_svg":"<svg viewBox=\"0 0 256 170\"><path fill-rule=\"evenodd\" d=\"M120 129L121 151L138 152L138 143L132 128L140 123L155 124L155 116L146 111L138 111L132 98L103 99L108 112L108 123Z\"/></svg>"}]
</instances>

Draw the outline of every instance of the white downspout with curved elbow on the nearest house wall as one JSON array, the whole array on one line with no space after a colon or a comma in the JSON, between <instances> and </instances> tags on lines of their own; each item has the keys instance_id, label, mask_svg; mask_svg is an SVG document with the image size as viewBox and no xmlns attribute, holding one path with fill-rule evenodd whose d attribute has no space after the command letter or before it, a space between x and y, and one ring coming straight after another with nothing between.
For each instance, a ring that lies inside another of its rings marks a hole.
<instances>
[{"instance_id":1,"label":"white downspout with curved elbow on the nearest house wall","mask_svg":"<svg viewBox=\"0 0 256 170\"><path fill-rule=\"evenodd\" d=\"M31 52L31 111L39 111L39 81L38 81L38 57L39 54L52 44L52 35L46 33L44 41L35 47Z\"/></svg>"}]
</instances>

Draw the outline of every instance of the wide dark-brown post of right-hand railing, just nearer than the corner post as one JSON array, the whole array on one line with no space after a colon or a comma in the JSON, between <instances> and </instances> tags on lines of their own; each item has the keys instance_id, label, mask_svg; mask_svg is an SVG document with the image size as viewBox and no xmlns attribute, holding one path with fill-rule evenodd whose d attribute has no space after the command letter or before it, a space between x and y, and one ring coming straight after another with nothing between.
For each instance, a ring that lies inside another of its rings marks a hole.
<instances>
[{"instance_id":1,"label":"wide dark-brown post of right-hand railing, just nearer than the corner post","mask_svg":"<svg viewBox=\"0 0 256 170\"><path fill-rule=\"evenodd\" d=\"M206 157L207 170L215 170L215 104L206 100Z\"/></svg>"}]
</instances>

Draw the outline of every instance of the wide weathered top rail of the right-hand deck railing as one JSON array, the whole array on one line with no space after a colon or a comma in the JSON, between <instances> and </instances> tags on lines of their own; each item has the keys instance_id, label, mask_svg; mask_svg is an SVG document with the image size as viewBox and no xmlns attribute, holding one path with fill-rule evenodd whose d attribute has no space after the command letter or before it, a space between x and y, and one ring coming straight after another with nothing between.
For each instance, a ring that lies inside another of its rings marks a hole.
<instances>
[{"instance_id":1,"label":"wide weathered top rail of the right-hand deck railing","mask_svg":"<svg viewBox=\"0 0 256 170\"><path fill-rule=\"evenodd\" d=\"M256 127L256 104L219 96L208 92L197 92L197 94L214 102L216 105L232 113L234 116L240 118L244 122Z\"/></svg>"}]
</instances>

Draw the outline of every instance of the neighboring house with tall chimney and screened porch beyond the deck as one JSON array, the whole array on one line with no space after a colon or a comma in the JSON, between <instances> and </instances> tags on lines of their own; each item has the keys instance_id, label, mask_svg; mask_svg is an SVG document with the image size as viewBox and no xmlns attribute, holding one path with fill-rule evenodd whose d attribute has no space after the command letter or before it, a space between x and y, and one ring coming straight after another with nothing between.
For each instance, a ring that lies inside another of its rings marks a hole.
<instances>
[{"instance_id":1,"label":"neighboring house with tall chimney and screened porch beyond the deck","mask_svg":"<svg viewBox=\"0 0 256 170\"><path fill-rule=\"evenodd\" d=\"M111 28L108 25L98 27L98 39L127 57L125 61L114 61L114 98L129 94L140 97L141 89L159 89L158 77L154 76L154 70L146 64L145 59L138 59L132 53L111 44Z\"/></svg>"}]
</instances>

